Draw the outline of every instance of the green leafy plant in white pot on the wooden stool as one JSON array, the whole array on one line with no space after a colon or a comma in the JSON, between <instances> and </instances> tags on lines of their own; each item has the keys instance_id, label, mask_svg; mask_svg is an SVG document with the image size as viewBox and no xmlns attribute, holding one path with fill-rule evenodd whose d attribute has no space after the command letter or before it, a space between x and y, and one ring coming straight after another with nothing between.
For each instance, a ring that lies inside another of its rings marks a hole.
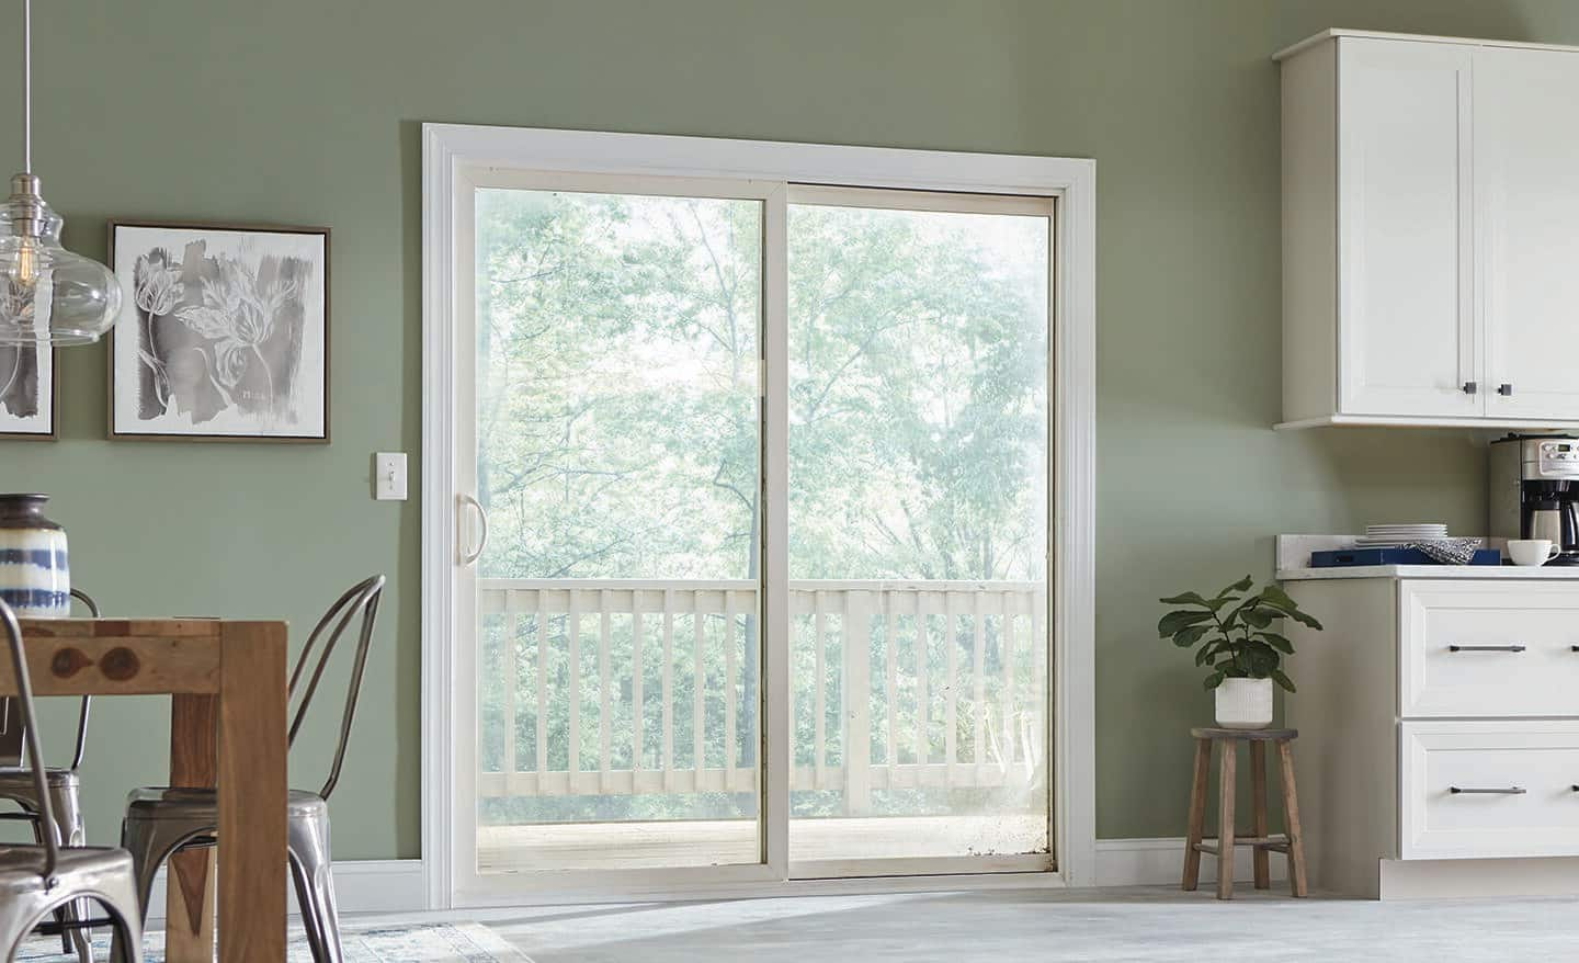
<instances>
[{"instance_id":1,"label":"green leafy plant in white pot on the wooden stool","mask_svg":"<svg viewBox=\"0 0 1579 963\"><path fill-rule=\"evenodd\" d=\"M1295 691L1282 671L1282 657L1293 643L1271 631L1277 619L1293 619L1320 631L1322 624L1300 611L1298 603L1274 584L1247 594L1254 579L1244 576L1211 598L1184 592L1162 598L1180 606L1157 622L1157 638L1172 638L1180 649L1197 647L1195 665L1211 669L1205 685L1216 691L1217 725L1225 729L1260 729L1273 721L1273 684Z\"/></svg>"}]
</instances>

